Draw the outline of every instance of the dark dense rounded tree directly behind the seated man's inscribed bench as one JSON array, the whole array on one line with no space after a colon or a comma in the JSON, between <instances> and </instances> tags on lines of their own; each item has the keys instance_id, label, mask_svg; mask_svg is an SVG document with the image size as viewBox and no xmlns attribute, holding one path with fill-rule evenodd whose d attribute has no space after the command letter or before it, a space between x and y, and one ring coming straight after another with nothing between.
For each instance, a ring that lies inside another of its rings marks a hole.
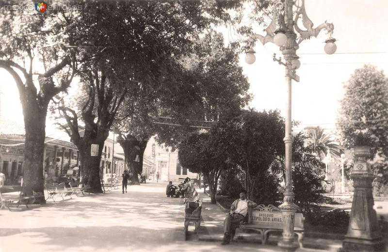
<instances>
[{"instance_id":1,"label":"dark dense rounded tree directly behind the seated man's inscribed bench","mask_svg":"<svg viewBox=\"0 0 388 252\"><path fill-rule=\"evenodd\" d=\"M274 179L267 173L274 159L284 152L284 123L279 111L243 110L232 119L221 121L213 131L218 139L217 152L227 153L227 162L245 171L245 189L252 200L276 190L258 191L258 184ZM276 184L275 180L272 180ZM265 187L263 188L265 189Z\"/></svg>"}]
</instances>

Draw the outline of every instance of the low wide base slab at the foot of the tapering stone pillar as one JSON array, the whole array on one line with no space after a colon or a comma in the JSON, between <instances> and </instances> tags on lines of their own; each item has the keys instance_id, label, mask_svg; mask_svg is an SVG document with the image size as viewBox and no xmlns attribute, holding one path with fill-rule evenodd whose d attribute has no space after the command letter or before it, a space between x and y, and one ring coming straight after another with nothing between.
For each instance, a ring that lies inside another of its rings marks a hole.
<instances>
[{"instance_id":1,"label":"low wide base slab at the foot of the tapering stone pillar","mask_svg":"<svg viewBox=\"0 0 388 252\"><path fill-rule=\"evenodd\" d=\"M385 251L385 244L382 239L364 240L346 237L342 241L342 248L344 252L380 252Z\"/></svg>"}]
</instances>

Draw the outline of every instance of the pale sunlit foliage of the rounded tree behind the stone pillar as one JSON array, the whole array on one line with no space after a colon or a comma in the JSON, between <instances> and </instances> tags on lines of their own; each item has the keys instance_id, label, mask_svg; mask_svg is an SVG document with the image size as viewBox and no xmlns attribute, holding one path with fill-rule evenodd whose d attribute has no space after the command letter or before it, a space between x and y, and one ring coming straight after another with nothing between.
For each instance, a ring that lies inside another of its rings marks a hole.
<instances>
[{"instance_id":1,"label":"pale sunlit foliage of the rounded tree behind the stone pillar","mask_svg":"<svg viewBox=\"0 0 388 252\"><path fill-rule=\"evenodd\" d=\"M383 71L372 65L356 69L345 83L337 119L344 145L371 145L374 153L381 152L387 157L387 108L388 79Z\"/></svg>"}]
</instances>

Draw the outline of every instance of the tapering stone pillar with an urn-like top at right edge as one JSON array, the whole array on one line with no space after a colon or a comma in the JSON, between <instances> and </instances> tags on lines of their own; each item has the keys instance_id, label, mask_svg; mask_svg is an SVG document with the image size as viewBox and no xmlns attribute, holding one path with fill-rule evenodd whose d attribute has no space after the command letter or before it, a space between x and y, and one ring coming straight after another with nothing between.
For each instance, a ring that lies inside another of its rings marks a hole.
<instances>
[{"instance_id":1,"label":"tapering stone pillar with an urn-like top at right edge","mask_svg":"<svg viewBox=\"0 0 388 252\"><path fill-rule=\"evenodd\" d=\"M373 209L373 172L367 163L370 147L355 146L354 151L356 162L351 178L355 192L348 233L342 242L342 247L346 252L384 251L384 242L377 222L376 211Z\"/></svg>"}]
</instances>

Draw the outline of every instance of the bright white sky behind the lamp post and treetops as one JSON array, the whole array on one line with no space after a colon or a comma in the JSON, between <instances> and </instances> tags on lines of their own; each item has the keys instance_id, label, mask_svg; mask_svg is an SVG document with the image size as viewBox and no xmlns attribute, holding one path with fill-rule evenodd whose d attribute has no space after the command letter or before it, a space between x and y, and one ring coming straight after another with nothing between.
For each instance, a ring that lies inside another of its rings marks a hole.
<instances>
[{"instance_id":1,"label":"bright white sky behind the lamp post and treetops","mask_svg":"<svg viewBox=\"0 0 388 252\"><path fill-rule=\"evenodd\" d=\"M328 37L325 31L321 31L317 38L300 44L297 54L302 65L297 70L300 82L292 85L292 119L300 121L301 125L294 130L307 125L334 129L339 100L343 96L342 83L354 70L371 63L384 70L386 75L388 73L388 1L306 0L306 11L314 28L325 20L334 24L337 52L324 54L323 42ZM262 29L255 28L254 32L265 35ZM229 40L237 38L230 34L225 36ZM262 46L258 42L254 49L254 64L246 64L244 54L240 57L240 64L251 85L250 93L255 96L250 107L259 111L279 109L284 116L284 67L272 60L274 52L277 57L280 56L278 47L271 43ZM1 115L22 124L22 110L14 80L3 69L0 69L0 79Z\"/></svg>"}]
</instances>

